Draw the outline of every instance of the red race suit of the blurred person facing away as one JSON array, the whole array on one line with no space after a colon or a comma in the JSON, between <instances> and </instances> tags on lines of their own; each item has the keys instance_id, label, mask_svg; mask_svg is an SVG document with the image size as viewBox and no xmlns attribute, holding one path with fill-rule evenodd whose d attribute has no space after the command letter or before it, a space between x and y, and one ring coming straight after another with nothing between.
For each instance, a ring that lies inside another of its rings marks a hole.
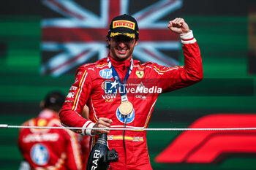
<instances>
[{"instance_id":1,"label":"red race suit of the blurred person facing away","mask_svg":"<svg viewBox=\"0 0 256 170\"><path fill-rule=\"evenodd\" d=\"M58 115L43 110L26 126L62 127ZM67 129L20 128L18 146L32 169L82 169L78 134Z\"/></svg>"}]
</instances>

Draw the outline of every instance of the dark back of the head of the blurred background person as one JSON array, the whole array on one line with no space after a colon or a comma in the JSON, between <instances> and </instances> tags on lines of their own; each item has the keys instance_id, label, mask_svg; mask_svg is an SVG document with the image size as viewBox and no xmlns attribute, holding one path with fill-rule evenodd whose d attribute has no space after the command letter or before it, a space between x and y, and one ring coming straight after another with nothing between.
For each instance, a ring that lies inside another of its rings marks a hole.
<instances>
[{"instance_id":1,"label":"dark back of the head of the blurred background person","mask_svg":"<svg viewBox=\"0 0 256 170\"><path fill-rule=\"evenodd\" d=\"M66 96L59 91L52 91L45 97L45 104L43 109L52 109L55 112L59 112L64 104Z\"/></svg>"}]
</instances>

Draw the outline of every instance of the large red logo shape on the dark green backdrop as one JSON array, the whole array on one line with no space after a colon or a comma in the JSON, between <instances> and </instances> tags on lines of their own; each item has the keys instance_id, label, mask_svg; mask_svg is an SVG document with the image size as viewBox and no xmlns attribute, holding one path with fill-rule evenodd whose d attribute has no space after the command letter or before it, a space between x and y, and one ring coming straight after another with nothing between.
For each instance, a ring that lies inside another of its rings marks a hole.
<instances>
[{"instance_id":1,"label":"large red logo shape on the dark green backdrop","mask_svg":"<svg viewBox=\"0 0 256 170\"><path fill-rule=\"evenodd\" d=\"M201 117L189 128L255 128L256 114ZM256 130L184 131L155 158L157 163L218 163L228 155L256 154Z\"/></svg>"}]
</instances>

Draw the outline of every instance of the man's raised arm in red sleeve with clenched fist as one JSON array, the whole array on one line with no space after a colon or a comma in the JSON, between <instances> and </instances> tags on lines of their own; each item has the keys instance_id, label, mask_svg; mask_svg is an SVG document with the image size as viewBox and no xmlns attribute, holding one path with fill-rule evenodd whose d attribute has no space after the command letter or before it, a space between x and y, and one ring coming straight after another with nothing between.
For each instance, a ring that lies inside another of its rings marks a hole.
<instances>
[{"instance_id":1,"label":"man's raised arm in red sleeve with clenched fist","mask_svg":"<svg viewBox=\"0 0 256 170\"><path fill-rule=\"evenodd\" d=\"M163 92L184 88L203 79L200 49L192 30L189 29L183 18L171 20L167 27L181 38L184 66L164 68L162 79L166 79L166 81L162 81L165 82L162 85Z\"/></svg>"}]
</instances>

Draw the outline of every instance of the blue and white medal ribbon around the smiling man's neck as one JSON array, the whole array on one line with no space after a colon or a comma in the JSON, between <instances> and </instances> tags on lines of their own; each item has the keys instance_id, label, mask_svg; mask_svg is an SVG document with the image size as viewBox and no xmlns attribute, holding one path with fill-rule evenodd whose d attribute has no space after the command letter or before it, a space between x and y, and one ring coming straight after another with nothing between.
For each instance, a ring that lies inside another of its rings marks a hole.
<instances>
[{"instance_id":1,"label":"blue and white medal ribbon around the smiling man's neck","mask_svg":"<svg viewBox=\"0 0 256 170\"><path fill-rule=\"evenodd\" d=\"M108 67L110 69L110 72L114 78L114 80L116 82L118 82L118 91L121 95L121 102L123 101L128 101L128 98L127 98L127 89L126 89L126 84L127 84L127 80L128 80L128 77L129 77L129 74L131 74L132 72L132 68L133 68L133 60L131 59L131 63L129 65L129 70L127 71L127 74L125 75L124 77L124 83L121 82L121 79L120 77L118 76L118 73L116 72L116 69L112 66L112 63L110 61L110 59L108 58ZM122 85L124 87L124 91L120 91L119 90L119 85Z\"/></svg>"}]
</instances>

